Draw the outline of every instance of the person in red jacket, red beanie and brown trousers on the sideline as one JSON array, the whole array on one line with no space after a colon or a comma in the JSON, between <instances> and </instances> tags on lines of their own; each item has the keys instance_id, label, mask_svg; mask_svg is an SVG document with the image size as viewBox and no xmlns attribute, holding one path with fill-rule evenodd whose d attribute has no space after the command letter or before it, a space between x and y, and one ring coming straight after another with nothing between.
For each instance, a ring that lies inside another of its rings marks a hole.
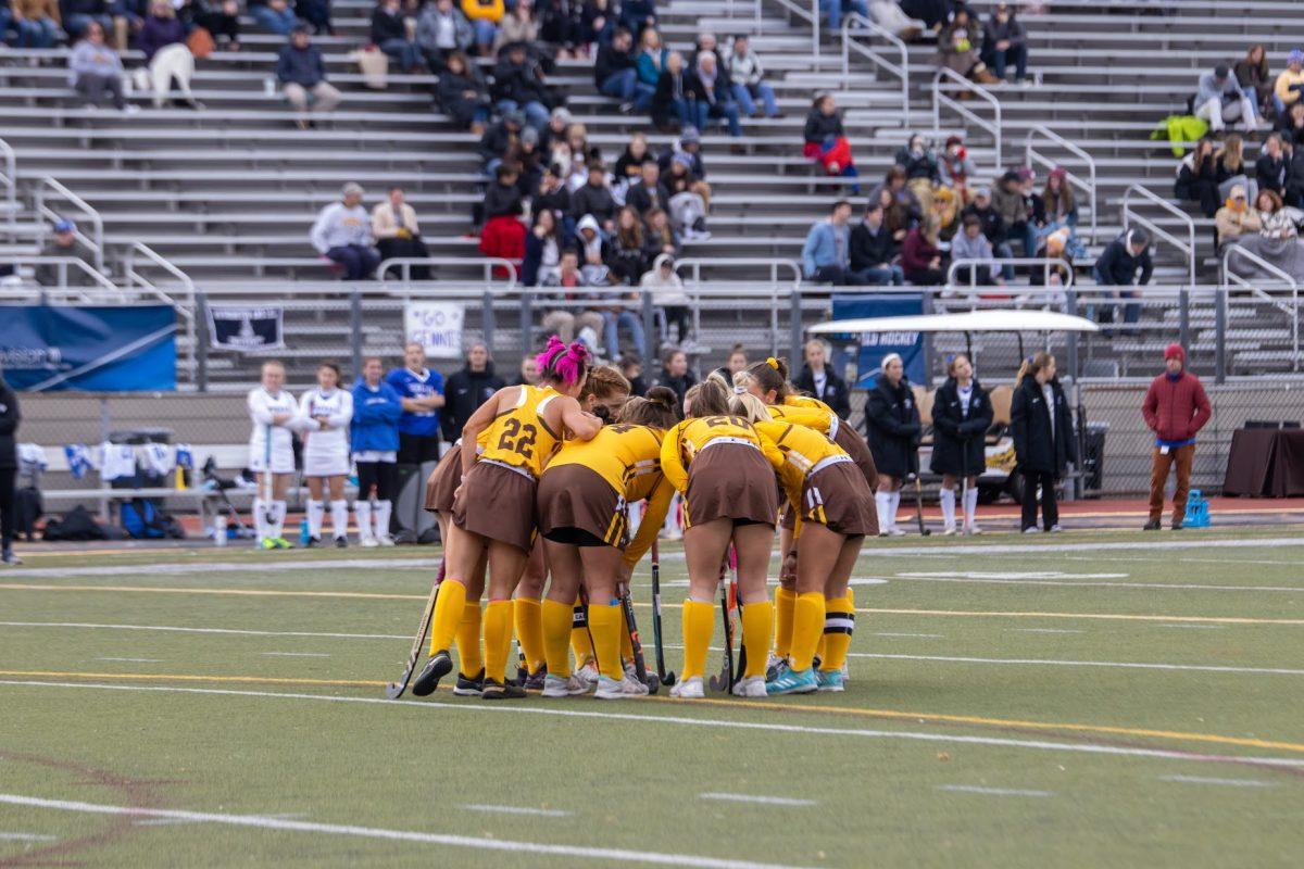
<instances>
[{"instance_id":1,"label":"person in red jacket, red beanie and brown trousers on the sideline","mask_svg":"<svg viewBox=\"0 0 1304 869\"><path fill-rule=\"evenodd\" d=\"M1159 529L1163 516L1163 486L1168 469L1176 465L1178 489L1172 494L1172 530L1181 530L1191 490L1191 461L1196 455L1196 433L1209 422L1213 409L1200 378L1183 370L1187 352L1180 344L1163 350L1164 373L1146 390L1141 416L1154 433L1154 460L1150 465L1150 520L1145 530Z\"/></svg>"}]
</instances>

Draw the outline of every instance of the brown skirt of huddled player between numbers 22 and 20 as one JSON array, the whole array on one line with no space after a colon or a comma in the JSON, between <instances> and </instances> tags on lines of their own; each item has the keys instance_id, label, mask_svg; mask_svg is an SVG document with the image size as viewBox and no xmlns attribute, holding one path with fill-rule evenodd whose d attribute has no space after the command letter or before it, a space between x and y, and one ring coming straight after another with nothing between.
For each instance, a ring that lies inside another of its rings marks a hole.
<instances>
[{"instance_id":1,"label":"brown skirt of huddled player between numbers 22 and 20","mask_svg":"<svg viewBox=\"0 0 1304 869\"><path fill-rule=\"evenodd\" d=\"M549 468L539 481L535 503L539 533L554 543L623 550L629 542L625 498L591 468Z\"/></svg>"}]
</instances>

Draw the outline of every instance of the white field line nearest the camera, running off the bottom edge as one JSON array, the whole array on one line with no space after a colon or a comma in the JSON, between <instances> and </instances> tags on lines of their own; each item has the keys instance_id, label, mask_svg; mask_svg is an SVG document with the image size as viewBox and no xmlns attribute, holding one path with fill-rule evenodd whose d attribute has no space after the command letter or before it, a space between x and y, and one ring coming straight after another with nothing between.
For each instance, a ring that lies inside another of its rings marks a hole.
<instances>
[{"instance_id":1,"label":"white field line nearest the camera, running off the bottom edge","mask_svg":"<svg viewBox=\"0 0 1304 869\"><path fill-rule=\"evenodd\" d=\"M17 793L0 793L0 803L26 805L57 812L81 812L86 814L117 814L142 818L176 818L201 823L227 823L236 827L259 830L282 830L287 833L316 833L323 835L353 836L361 839L387 839L391 842L416 842L420 844L442 844L454 848L476 851L507 851L515 853L537 853L553 857L579 857L612 862L644 862L661 866L698 866L700 869L797 869L769 862L750 860L729 860L704 857L690 853L662 853L659 851L630 851L625 848L592 848L587 846L544 844L539 842L512 842L510 839L480 839L447 833L419 833L413 830L385 830L381 827L361 827L346 823L316 823L312 821L287 821L265 816L220 814L216 812L185 812L181 809L145 809L130 805L104 805L99 803L78 803L76 800L47 800Z\"/></svg>"}]
</instances>

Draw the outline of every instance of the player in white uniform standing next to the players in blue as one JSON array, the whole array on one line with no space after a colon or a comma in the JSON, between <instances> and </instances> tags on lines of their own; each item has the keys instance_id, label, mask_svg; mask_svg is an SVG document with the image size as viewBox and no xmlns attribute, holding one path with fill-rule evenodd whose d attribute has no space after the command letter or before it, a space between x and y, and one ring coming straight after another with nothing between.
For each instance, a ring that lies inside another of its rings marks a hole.
<instances>
[{"instance_id":1,"label":"player in white uniform standing next to the players in blue","mask_svg":"<svg viewBox=\"0 0 1304 869\"><path fill-rule=\"evenodd\" d=\"M317 366L317 387L299 400L304 431L304 477L308 479L308 546L321 546L322 520L330 492L330 525L335 546L348 546L348 502L344 479L349 472L348 423L353 396L339 388L339 369L330 362Z\"/></svg>"}]
</instances>

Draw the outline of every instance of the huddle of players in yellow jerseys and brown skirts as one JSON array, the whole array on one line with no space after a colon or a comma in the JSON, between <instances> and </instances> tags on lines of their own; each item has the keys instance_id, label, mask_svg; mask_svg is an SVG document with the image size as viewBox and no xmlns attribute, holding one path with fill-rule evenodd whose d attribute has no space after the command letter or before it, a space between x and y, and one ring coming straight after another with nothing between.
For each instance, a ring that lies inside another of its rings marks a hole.
<instances>
[{"instance_id":1,"label":"huddle of players in yellow jerseys and brown skirts","mask_svg":"<svg viewBox=\"0 0 1304 869\"><path fill-rule=\"evenodd\" d=\"M428 612L430 657L412 692L436 691L456 649L456 694L647 694L655 680L636 675L629 580L675 495L689 595L672 696L704 696L726 571L737 577L742 637L738 674L722 687L739 697L842 691L850 576L865 537L879 532L865 440L798 395L782 360L733 383L713 373L682 406L662 387L630 397L615 369L591 366L582 344L556 336L537 371L535 386L499 390L476 410L426 483L445 556ZM776 529L782 567L771 601ZM512 634L519 675L509 679Z\"/></svg>"}]
</instances>

